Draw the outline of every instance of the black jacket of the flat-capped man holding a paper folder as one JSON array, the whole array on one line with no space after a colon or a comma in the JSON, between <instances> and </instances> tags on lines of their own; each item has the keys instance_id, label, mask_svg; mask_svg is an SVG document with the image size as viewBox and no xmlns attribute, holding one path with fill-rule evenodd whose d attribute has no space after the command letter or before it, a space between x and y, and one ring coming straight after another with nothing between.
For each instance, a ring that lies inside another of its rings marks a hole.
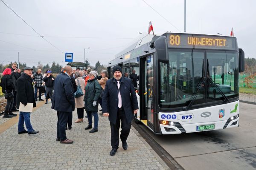
<instances>
[{"instance_id":1,"label":"black jacket of the flat-capped man holding a paper folder","mask_svg":"<svg viewBox=\"0 0 256 170\"><path fill-rule=\"evenodd\" d=\"M34 86L32 84L32 78L26 73L22 73L20 78L17 79L17 95L16 95L16 105L17 109L20 108L20 102L33 103L33 108L36 107Z\"/></svg>"}]
</instances>

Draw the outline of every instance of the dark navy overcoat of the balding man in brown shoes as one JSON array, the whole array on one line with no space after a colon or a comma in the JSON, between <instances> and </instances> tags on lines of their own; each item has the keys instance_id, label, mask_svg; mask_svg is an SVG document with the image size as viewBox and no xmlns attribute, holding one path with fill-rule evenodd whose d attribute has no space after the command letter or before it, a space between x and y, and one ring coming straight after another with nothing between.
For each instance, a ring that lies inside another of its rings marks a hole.
<instances>
[{"instance_id":1,"label":"dark navy overcoat of the balding man in brown shoes","mask_svg":"<svg viewBox=\"0 0 256 170\"><path fill-rule=\"evenodd\" d=\"M52 96L52 109L61 112L72 112L75 110L74 90L70 77L59 74L54 80L54 92Z\"/></svg>"}]
</instances>

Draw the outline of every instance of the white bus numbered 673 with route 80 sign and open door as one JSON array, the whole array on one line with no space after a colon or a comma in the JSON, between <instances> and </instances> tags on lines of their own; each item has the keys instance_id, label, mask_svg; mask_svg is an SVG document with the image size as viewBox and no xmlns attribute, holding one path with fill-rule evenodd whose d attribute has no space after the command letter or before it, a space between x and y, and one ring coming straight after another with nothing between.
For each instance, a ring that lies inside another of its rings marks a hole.
<instances>
[{"instance_id":1,"label":"white bus numbered 673 with route 80 sign and open door","mask_svg":"<svg viewBox=\"0 0 256 170\"><path fill-rule=\"evenodd\" d=\"M156 134L239 126L239 72L244 51L236 37L165 33L147 35L108 63L134 81L142 122ZM136 78L137 77L137 78Z\"/></svg>"}]
</instances>

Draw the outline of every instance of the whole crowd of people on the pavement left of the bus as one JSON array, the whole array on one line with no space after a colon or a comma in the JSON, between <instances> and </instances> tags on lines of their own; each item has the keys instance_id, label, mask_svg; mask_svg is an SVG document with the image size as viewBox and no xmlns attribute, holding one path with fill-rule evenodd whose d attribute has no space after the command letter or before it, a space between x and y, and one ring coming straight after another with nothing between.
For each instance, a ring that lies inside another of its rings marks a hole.
<instances>
[{"instance_id":1,"label":"whole crowd of people on the pavement left of the bus","mask_svg":"<svg viewBox=\"0 0 256 170\"><path fill-rule=\"evenodd\" d=\"M106 70L102 70L98 75L97 71L90 68L80 71L79 68L72 69L68 65L62 68L56 77L52 76L50 70L44 75L41 69L34 74L32 71L32 68L25 67L21 73L16 63L12 63L12 68L3 71L0 86L7 99L3 118L17 116L12 111L18 111L20 105L26 107L28 103L32 103L33 107L36 107L36 101L43 101L41 94L44 92L45 104L48 104L50 99L51 108L57 111L56 141L72 144L73 140L67 139L66 130L72 129L72 113L75 108L78 118L75 123L84 122L84 117L87 117L88 125L85 130L91 129L89 133L95 133L98 132L100 105L102 107L100 116L108 116L110 121L112 146L110 155L115 155L118 149L120 122L122 122L120 135L122 147L125 150L128 148L126 140L131 129L131 120L138 111L138 102L134 82L127 78L126 73L122 77L121 67L113 67L111 79L108 79ZM27 130L24 128L24 122ZM31 125L30 112L20 111L18 134L21 133L39 133Z\"/></svg>"}]
</instances>

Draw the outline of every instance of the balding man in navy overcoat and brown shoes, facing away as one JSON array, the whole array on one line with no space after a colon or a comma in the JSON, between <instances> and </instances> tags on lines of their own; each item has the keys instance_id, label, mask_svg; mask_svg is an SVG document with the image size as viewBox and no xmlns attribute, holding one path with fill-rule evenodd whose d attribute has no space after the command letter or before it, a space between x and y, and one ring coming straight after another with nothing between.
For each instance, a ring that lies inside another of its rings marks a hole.
<instances>
[{"instance_id":1,"label":"balding man in navy overcoat and brown shoes, facing away","mask_svg":"<svg viewBox=\"0 0 256 170\"><path fill-rule=\"evenodd\" d=\"M75 110L74 89L70 75L72 68L69 65L64 67L64 71L55 78L54 93L52 96L52 109L57 111L57 138L63 144L72 144L73 141L67 139L65 127L68 116Z\"/></svg>"}]
</instances>

